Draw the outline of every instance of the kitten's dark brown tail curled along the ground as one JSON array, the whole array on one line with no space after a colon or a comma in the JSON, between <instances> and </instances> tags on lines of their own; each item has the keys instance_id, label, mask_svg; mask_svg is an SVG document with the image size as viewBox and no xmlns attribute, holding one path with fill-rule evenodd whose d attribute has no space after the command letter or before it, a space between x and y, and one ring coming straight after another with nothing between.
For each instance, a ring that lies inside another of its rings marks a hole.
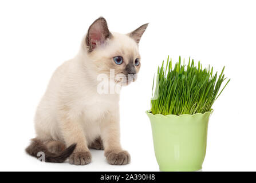
<instances>
[{"instance_id":1,"label":"kitten's dark brown tail curled along the ground","mask_svg":"<svg viewBox=\"0 0 256 183\"><path fill-rule=\"evenodd\" d=\"M39 158L39 152L44 153L45 162L64 162L66 158L68 158L73 153L75 148L76 144L72 144L62 152L55 154L49 152L44 142L34 138L31 140L31 144L26 148L26 152L27 154L37 158Z\"/></svg>"}]
</instances>

